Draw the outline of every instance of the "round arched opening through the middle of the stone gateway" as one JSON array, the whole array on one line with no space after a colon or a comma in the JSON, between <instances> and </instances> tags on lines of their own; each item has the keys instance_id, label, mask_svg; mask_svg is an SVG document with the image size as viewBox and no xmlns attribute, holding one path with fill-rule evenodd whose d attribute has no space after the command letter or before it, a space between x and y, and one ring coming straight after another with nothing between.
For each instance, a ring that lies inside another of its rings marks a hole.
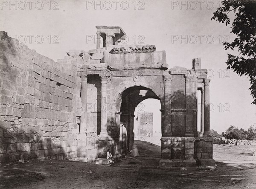
<instances>
[{"instance_id":1,"label":"round arched opening through the middle of the stone gateway","mask_svg":"<svg viewBox=\"0 0 256 189\"><path fill-rule=\"evenodd\" d=\"M120 122L122 122L122 124L124 125L124 129L122 130L125 130L125 132L120 135L122 136L122 142L120 144L122 153L129 154L129 151L134 148L134 144L136 145L136 143L134 143L135 139L145 142L151 141L151 144L153 144L154 146L157 145L159 147L158 155L161 155L160 138L162 137L161 131L163 125L162 115L160 111L161 109L162 108L160 98L157 96L156 93L154 93L151 89L147 87L134 86L129 87L122 92L120 105ZM138 135L138 133L134 132L134 123L137 124L136 117L138 116L138 113L141 116L143 115L143 112L148 112L148 114L151 114L152 116L151 123L145 123L146 125L151 124L151 132L144 133L143 136L140 136L142 135L142 133ZM137 135L136 137L135 133ZM159 141L157 141L157 138L159 138ZM154 140L157 142L155 142Z\"/></svg>"}]
</instances>

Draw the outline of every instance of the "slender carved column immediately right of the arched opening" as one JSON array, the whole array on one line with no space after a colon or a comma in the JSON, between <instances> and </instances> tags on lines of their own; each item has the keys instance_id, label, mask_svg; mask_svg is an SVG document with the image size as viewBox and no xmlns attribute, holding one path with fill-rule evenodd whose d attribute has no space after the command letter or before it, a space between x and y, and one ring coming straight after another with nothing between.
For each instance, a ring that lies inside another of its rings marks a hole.
<instances>
[{"instance_id":1,"label":"slender carved column immediately right of the arched opening","mask_svg":"<svg viewBox=\"0 0 256 189\"><path fill-rule=\"evenodd\" d=\"M162 136L163 137L172 137L172 126L171 126L171 85L172 85L172 76L164 76L164 129Z\"/></svg>"}]
</instances>

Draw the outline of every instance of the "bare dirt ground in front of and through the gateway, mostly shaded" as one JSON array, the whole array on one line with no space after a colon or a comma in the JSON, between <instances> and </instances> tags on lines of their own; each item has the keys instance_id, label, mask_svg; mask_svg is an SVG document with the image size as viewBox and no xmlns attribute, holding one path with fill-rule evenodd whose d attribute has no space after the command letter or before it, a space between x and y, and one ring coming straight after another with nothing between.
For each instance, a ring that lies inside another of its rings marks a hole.
<instances>
[{"instance_id":1,"label":"bare dirt ground in front of and through the gateway, mostly shaded","mask_svg":"<svg viewBox=\"0 0 256 189\"><path fill-rule=\"evenodd\" d=\"M156 169L160 146L137 141L140 157L113 166L69 160L4 163L0 188L256 188L255 146L214 145L215 171Z\"/></svg>"}]
</instances>

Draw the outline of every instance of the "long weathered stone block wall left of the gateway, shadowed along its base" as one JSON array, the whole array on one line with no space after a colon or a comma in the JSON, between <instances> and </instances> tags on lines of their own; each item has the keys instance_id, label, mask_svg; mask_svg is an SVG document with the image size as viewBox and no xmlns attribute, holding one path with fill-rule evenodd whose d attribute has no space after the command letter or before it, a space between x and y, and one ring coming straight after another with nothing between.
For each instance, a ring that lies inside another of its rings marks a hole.
<instances>
[{"instance_id":1,"label":"long weathered stone block wall left of the gateway, shadowed along its base","mask_svg":"<svg viewBox=\"0 0 256 189\"><path fill-rule=\"evenodd\" d=\"M82 59L55 62L6 32L0 45L0 162L77 157Z\"/></svg>"}]
</instances>

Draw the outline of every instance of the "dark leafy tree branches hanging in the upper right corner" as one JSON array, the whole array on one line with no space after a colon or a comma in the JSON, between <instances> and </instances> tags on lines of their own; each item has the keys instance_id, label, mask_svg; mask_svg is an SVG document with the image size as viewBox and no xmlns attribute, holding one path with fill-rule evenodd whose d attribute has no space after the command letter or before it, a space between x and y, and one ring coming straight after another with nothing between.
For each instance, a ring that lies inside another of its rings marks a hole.
<instances>
[{"instance_id":1,"label":"dark leafy tree branches hanging in the upper right corner","mask_svg":"<svg viewBox=\"0 0 256 189\"><path fill-rule=\"evenodd\" d=\"M230 24L229 12L235 14L231 32L237 35L232 41L224 42L224 49L238 48L239 55L228 54L227 69L232 69L240 76L250 78L253 104L256 104L256 0L224 0L222 7L213 13L212 20Z\"/></svg>"}]
</instances>

